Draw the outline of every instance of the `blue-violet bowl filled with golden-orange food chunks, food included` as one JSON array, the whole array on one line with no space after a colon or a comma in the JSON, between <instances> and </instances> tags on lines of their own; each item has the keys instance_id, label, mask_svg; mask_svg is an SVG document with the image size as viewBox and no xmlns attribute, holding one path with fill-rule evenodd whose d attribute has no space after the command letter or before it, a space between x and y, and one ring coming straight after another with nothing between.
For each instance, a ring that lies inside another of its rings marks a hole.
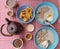
<instances>
[{"instance_id":1,"label":"blue-violet bowl filled with golden-orange food chunks, food included","mask_svg":"<svg viewBox=\"0 0 60 49\"><path fill-rule=\"evenodd\" d=\"M20 6L17 10L16 17L21 23L30 23L34 19L34 9L29 5Z\"/></svg>"}]
</instances>

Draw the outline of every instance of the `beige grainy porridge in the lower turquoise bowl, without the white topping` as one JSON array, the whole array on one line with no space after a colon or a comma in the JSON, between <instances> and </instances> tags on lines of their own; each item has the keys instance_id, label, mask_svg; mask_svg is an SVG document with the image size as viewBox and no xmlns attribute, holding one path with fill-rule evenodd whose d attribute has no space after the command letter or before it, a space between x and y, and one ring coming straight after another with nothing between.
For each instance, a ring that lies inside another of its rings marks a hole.
<instances>
[{"instance_id":1,"label":"beige grainy porridge in the lower turquoise bowl, without the white topping","mask_svg":"<svg viewBox=\"0 0 60 49\"><path fill-rule=\"evenodd\" d=\"M54 42L54 35L50 30L43 29L37 34L36 39L37 39L38 44L41 46L42 43L46 40L50 40L51 43L53 43Z\"/></svg>"}]
</instances>

